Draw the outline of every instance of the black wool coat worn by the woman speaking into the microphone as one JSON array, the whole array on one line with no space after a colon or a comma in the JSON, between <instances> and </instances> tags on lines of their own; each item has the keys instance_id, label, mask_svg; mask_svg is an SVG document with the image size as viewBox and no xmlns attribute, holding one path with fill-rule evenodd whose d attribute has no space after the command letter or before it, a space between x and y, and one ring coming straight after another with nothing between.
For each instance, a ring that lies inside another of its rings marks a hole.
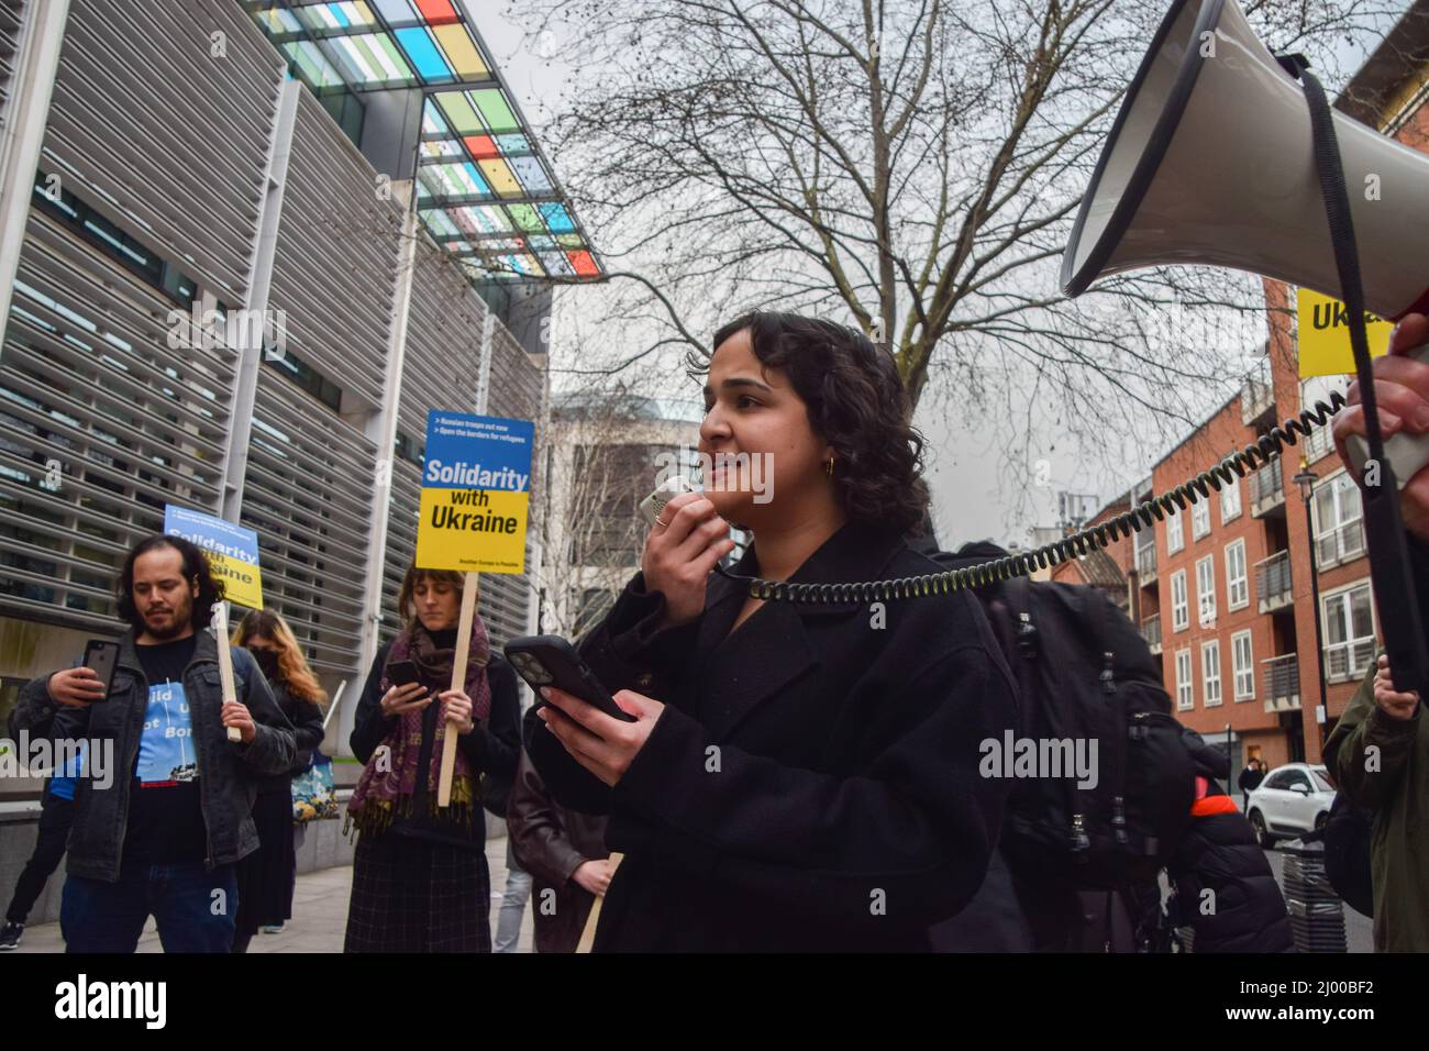
<instances>
[{"instance_id":1,"label":"black wool coat worn by the woman speaking into the microphone","mask_svg":"<svg viewBox=\"0 0 1429 1051\"><path fill-rule=\"evenodd\" d=\"M937 571L850 522L790 579ZM755 548L736 572L757 575ZM1017 729L982 609L770 601L730 635L745 596L712 575L700 619L660 628L664 596L637 573L584 639L612 692L666 705L613 789L526 722L552 795L609 814L626 855L596 951L927 949L982 884L1009 788L977 772L979 744Z\"/></svg>"}]
</instances>

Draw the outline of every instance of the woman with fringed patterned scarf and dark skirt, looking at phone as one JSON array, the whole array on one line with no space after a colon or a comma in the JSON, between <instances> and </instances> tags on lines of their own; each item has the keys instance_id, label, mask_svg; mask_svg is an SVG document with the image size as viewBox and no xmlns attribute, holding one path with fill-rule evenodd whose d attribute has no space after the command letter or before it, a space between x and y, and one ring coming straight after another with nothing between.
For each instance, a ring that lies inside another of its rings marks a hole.
<instances>
[{"instance_id":1,"label":"woman with fringed patterned scarf and dark skirt, looking at phone","mask_svg":"<svg viewBox=\"0 0 1429 1051\"><path fill-rule=\"evenodd\" d=\"M450 689L464 576L412 566L403 629L377 653L357 704L352 748L364 769L343 831L353 858L346 952L490 952L483 775L509 781L520 752L516 673L476 616L463 689ZM419 681L394 685L410 661ZM452 802L437 806L446 725L457 729Z\"/></svg>"}]
</instances>

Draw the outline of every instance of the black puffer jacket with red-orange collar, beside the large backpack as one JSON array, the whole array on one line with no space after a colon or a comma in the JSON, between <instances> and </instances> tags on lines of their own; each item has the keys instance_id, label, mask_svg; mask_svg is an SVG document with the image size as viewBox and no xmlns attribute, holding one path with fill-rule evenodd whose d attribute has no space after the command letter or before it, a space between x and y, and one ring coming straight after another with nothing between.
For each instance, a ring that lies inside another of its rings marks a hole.
<instances>
[{"instance_id":1,"label":"black puffer jacket with red-orange collar, beside the large backpack","mask_svg":"<svg viewBox=\"0 0 1429 1051\"><path fill-rule=\"evenodd\" d=\"M1290 917L1270 862L1245 815L1216 784L1230 774L1225 752L1195 731L1183 731L1183 741L1208 786L1169 865L1175 922L1195 928L1196 952L1293 952Z\"/></svg>"}]
</instances>

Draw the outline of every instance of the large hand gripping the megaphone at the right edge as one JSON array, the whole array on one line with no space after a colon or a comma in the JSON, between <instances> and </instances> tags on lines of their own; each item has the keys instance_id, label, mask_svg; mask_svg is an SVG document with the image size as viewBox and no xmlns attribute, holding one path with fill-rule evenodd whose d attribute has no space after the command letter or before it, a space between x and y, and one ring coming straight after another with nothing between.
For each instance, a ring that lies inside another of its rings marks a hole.
<instances>
[{"instance_id":1,"label":"large hand gripping the megaphone at the right edge","mask_svg":"<svg viewBox=\"0 0 1429 1051\"><path fill-rule=\"evenodd\" d=\"M1420 313L1406 315L1389 337L1389 353L1375 359L1375 400L1379 405L1379 428L1386 439L1400 430L1429 433L1429 365L1409 357L1410 350L1426 343L1429 319ZM1352 473L1355 468L1345 450L1345 439L1365 435L1365 406L1359 393L1359 380L1355 380L1349 388L1349 403L1335 418L1333 430L1335 448ZM1399 480L1406 483L1400 493L1405 528L1429 542L1429 469Z\"/></svg>"}]
</instances>

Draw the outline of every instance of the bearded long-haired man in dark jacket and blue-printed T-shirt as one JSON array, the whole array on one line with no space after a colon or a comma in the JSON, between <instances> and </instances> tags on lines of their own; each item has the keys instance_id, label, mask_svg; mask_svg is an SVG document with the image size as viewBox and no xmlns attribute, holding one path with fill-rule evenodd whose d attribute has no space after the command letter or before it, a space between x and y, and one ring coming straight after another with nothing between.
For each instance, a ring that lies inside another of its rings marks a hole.
<instances>
[{"instance_id":1,"label":"bearded long-haired man in dark jacket and blue-printed T-shirt","mask_svg":"<svg viewBox=\"0 0 1429 1051\"><path fill-rule=\"evenodd\" d=\"M70 952L133 952L153 915L166 952L227 952L234 868L259 845L253 778L292 769L293 726L246 649L230 651L236 699L223 699L229 641L206 629L223 583L196 545L140 541L117 592L130 629L107 698L91 668L70 668L27 684L11 722L51 746L111 741L134 756L109 789L76 785L60 931Z\"/></svg>"}]
</instances>

